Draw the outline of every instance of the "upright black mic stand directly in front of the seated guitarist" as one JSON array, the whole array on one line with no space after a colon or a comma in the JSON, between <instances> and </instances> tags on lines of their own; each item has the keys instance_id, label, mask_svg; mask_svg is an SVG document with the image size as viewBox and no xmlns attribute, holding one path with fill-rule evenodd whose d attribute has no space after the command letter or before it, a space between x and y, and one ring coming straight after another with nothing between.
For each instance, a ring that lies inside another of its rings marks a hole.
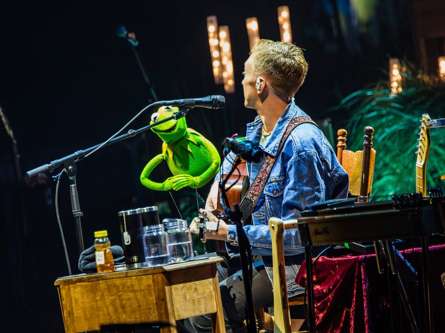
<instances>
[{"instance_id":1,"label":"upright black mic stand directly in front of the seated guitarist","mask_svg":"<svg viewBox=\"0 0 445 333\"><path fill-rule=\"evenodd\" d=\"M230 176L233 174L234 170L240 164L240 158L236 158L233 162L232 169L227 174L225 179L220 180L219 188L221 190L221 196L223 198L222 208L228 218L228 221L234 222L236 225L236 232L238 234L238 249L239 249L239 260L241 262L242 280L244 283L244 292L246 300L246 323L247 332L256 333L255 324L255 310L253 308L253 298L252 298L252 252L250 249L249 240L242 228L242 212L239 210L239 204L233 205L233 211L230 210L230 204L227 199L225 184Z\"/></svg>"}]
</instances>

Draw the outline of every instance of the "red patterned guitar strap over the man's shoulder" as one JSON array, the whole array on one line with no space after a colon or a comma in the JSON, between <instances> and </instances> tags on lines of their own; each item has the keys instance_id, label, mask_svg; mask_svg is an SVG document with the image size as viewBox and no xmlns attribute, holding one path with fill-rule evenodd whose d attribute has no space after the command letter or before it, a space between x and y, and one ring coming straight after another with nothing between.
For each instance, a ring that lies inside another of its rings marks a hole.
<instances>
[{"instance_id":1,"label":"red patterned guitar strap over the man's shoulder","mask_svg":"<svg viewBox=\"0 0 445 333\"><path fill-rule=\"evenodd\" d=\"M252 214L253 209L255 208L259 197L263 193L264 187L266 186L267 180L269 179L273 165L275 164L275 161L279 156L281 149L284 146L284 142L286 142L286 139L289 136L290 132L295 127L303 123L311 123L318 127L315 121L304 116L295 117L289 122L289 124L286 127L286 130L284 131L283 136L281 137L280 145L278 146L278 150L276 152L276 157L272 157L271 155L266 155L266 158L261 167L259 168L259 171L256 174L255 179L253 180L244 198L242 199L241 204L239 205L239 209L242 212L243 219L246 219L247 217L250 216L250 214Z\"/></svg>"}]
</instances>

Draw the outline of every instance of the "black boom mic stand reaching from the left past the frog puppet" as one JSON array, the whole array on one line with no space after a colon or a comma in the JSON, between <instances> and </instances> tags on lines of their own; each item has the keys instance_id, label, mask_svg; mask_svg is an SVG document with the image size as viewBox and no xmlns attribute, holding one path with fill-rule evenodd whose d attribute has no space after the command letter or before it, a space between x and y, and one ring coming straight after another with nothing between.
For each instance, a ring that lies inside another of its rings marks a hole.
<instances>
[{"instance_id":1,"label":"black boom mic stand reaching from the left past the frog puppet","mask_svg":"<svg viewBox=\"0 0 445 333\"><path fill-rule=\"evenodd\" d=\"M149 109L152 106L154 106L154 103L147 106L146 109ZM80 210L79 196L77 194L77 184L76 184L77 165L76 165L76 163L78 161L82 160L85 157L85 155L87 155L89 152L92 152L93 150L95 150L96 148L98 148L102 145L103 145L103 147L105 147L105 146L111 145L113 143L128 139L129 137L133 137L136 134L139 134L139 133L146 131L147 129L150 129L154 126L157 126L159 124L167 122L171 119L180 119L180 118L184 117L189 111L190 111L190 109L181 109L180 108L178 112L173 113L173 115L168 118L159 120L153 124L147 125L145 127L141 127L136 130L130 129L127 133L117 136L114 139L111 139L109 141L105 141L105 143L97 144L97 145L90 147L88 149L85 149L85 150L78 150L70 155L62 157L60 159L56 159L52 162L49 162L48 164L44 164L42 166L39 166L38 168L35 168L35 169L32 169L32 170L26 172L26 175L28 177L33 177L33 176L35 176L39 173L42 173L42 172L53 172L55 168L63 165L64 171L66 172L66 174L69 177L69 192L70 192L70 197L71 197L71 209L72 209L74 223L75 223L75 227L76 227L77 249L79 251L79 254L82 253L85 248L83 245L82 226L81 226L81 222L80 222L80 217L83 216L83 213Z\"/></svg>"}]
</instances>

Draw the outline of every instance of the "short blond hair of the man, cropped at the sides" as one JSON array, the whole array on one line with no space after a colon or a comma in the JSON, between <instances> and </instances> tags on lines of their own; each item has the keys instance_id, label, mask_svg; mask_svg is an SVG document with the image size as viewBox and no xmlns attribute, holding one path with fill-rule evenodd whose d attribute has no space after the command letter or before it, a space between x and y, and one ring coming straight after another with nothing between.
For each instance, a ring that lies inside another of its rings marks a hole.
<instances>
[{"instance_id":1,"label":"short blond hair of the man, cropped at the sides","mask_svg":"<svg viewBox=\"0 0 445 333\"><path fill-rule=\"evenodd\" d=\"M295 94L306 78L306 59L294 44L261 39L249 54L253 55L253 70L279 93Z\"/></svg>"}]
</instances>

